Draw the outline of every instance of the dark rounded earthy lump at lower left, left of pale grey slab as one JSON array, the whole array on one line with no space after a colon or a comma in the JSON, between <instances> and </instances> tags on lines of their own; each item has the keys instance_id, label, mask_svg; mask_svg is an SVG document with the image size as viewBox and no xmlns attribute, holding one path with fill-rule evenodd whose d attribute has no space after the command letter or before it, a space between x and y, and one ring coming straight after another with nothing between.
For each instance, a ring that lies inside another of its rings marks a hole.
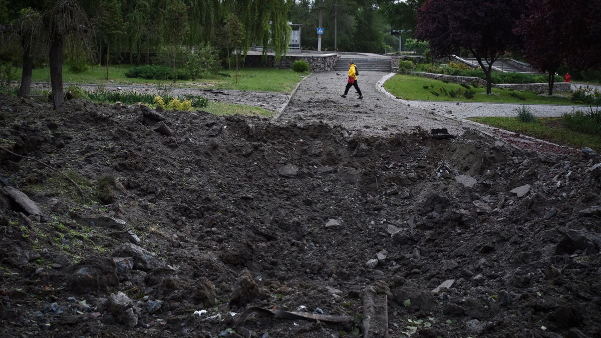
<instances>
[{"instance_id":1,"label":"dark rounded earthy lump at lower left, left of pale grey slab","mask_svg":"<svg viewBox=\"0 0 601 338\"><path fill-rule=\"evenodd\" d=\"M75 266L67 283L69 289L80 294L103 293L116 288L119 278L112 259L90 257Z\"/></svg>"}]
</instances>

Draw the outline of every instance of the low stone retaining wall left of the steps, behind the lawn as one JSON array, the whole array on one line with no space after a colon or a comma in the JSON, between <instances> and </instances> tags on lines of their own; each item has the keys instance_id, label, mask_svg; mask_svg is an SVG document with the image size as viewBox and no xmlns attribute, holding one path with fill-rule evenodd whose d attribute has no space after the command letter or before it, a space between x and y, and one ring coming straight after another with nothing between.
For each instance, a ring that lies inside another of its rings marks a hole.
<instances>
[{"instance_id":1,"label":"low stone retaining wall left of the steps, behind the lawn","mask_svg":"<svg viewBox=\"0 0 601 338\"><path fill-rule=\"evenodd\" d=\"M246 67L290 68L294 61L304 60L309 63L311 72L319 73L334 70L338 58L340 58L338 54L286 55L276 62L275 55L267 55L266 60L263 60L262 55L246 55L244 65Z\"/></svg>"}]
</instances>

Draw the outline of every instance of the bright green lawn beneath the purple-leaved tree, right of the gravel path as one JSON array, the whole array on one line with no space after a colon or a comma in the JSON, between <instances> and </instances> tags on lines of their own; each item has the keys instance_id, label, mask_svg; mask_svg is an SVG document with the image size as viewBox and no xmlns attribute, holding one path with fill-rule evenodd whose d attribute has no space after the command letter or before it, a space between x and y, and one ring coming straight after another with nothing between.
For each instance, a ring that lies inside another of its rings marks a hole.
<instances>
[{"instance_id":1,"label":"bright green lawn beneath the purple-leaved tree, right of the gravel path","mask_svg":"<svg viewBox=\"0 0 601 338\"><path fill-rule=\"evenodd\" d=\"M531 104L557 104L572 105L569 93L566 97L539 96L535 93L493 88L492 94L486 94L486 87L471 87L475 92L472 99L467 99L463 93L468 88L455 83L445 83L439 80L423 78L421 76L401 75L392 76L385 82L384 88L396 97L405 100L432 100L432 101L462 101L462 102L494 102L494 103L531 103ZM437 93L438 96L436 96ZM453 97L453 93L456 97Z\"/></svg>"}]
</instances>

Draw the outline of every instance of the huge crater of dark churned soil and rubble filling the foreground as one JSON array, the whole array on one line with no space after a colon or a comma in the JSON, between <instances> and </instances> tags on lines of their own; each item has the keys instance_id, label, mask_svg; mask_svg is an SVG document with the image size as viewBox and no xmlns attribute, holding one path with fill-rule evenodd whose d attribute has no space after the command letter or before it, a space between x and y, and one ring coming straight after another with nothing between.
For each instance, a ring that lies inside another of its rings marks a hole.
<instances>
[{"instance_id":1,"label":"huge crater of dark churned soil and rubble filling the foreground","mask_svg":"<svg viewBox=\"0 0 601 338\"><path fill-rule=\"evenodd\" d=\"M0 336L601 336L594 153L0 109Z\"/></svg>"}]
</instances>

